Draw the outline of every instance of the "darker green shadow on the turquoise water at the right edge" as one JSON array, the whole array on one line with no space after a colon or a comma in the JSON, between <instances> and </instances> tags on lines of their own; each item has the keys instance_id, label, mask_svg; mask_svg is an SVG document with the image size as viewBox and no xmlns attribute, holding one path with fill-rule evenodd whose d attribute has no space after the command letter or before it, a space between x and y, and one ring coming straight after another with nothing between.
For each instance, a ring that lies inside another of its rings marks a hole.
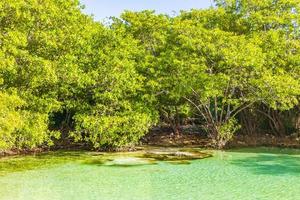
<instances>
[{"instance_id":1,"label":"darker green shadow on the turquoise water at the right edge","mask_svg":"<svg viewBox=\"0 0 300 200\"><path fill-rule=\"evenodd\" d=\"M258 154L234 159L230 164L245 167L255 174L300 176L300 157L291 155Z\"/></svg>"}]
</instances>

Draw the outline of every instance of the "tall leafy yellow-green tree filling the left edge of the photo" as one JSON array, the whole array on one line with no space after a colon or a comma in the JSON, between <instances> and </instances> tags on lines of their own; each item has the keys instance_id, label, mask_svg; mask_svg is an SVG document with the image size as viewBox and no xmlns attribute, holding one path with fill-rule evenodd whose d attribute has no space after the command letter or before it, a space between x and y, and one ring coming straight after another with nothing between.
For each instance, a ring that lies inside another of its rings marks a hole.
<instances>
[{"instance_id":1,"label":"tall leafy yellow-green tree filling the left edge of the photo","mask_svg":"<svg viewBox=\"0 0 300 200\"><path fill-rule=\"evenodd\" d=\"M20 121L4 131L11 135L5 143L9 148L51 144L51 138L58 136L49 130L49 115L61 108L57 98L60 60L76 43L79 24L91 19L81 13L75 0L43 4L5 0L0 8L1 91L14 99L3 99L3 105L12 108L7 116ZM22 103L14 104L17 99Z\"/></svg>"}]
</instances>

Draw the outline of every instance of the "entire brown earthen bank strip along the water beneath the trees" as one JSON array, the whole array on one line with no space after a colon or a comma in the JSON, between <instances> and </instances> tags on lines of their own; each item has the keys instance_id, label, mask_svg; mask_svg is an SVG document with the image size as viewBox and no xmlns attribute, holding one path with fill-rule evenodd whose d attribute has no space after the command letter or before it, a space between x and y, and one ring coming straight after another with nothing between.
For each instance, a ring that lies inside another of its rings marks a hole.
<instances>
[{"instance_id":1,"label":"entire brown earthen bank strip along the water beneath the trees","mask_svg":"<svg viewBox=\"0 0 300 200\"><path fill-rule=\"evenodd\" d=\"M159 147L200 147L213 149L214 145L211 139L207 138L193 129L187 129L180 135L175 136L168 129L155 129L145 135L139 145L133 148L119 149L118 151L135 151L140 150L143 146L159 146ZM235 135L233 139L227 143L225 149L244 148L244 147L282 147L282 148L299 148L300 137L284 136L278 137L270 134L260 135ZM47 151L57 150L89 150L83 144L68 144L66 146L54 146L52 148L34 148L34 149L12 149L1 151L0 157L38 154ZM105 150L102 150L105 151Z\"/></svg>"}]
</instances>

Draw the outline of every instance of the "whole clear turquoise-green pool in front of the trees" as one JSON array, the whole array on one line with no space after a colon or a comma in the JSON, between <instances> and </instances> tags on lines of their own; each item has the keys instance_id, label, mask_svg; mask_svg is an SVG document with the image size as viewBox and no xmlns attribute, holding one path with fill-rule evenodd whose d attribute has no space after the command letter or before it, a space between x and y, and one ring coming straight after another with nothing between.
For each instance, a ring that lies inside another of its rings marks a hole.
<instances>
[{"instance_id":1,"label":"whole clear turquoise-green pool in front of the trees","mask_svg":"<svg viewBox=\"0 0 300 200\"><path fill-rule=\"evenodd\" d=\"M300 150L199 151L59 151L2 158L0 199L300 199Z\"/></svg>"}]
</instances>

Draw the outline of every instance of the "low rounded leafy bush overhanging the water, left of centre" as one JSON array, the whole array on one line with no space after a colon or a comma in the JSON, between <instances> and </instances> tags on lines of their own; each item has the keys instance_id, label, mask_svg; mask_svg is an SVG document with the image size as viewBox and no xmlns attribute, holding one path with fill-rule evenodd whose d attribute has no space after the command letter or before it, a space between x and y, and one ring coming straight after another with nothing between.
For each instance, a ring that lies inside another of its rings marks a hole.
<instances>
[{"instance_id":1,"label":"low rounded leafy bush overhanging the water, left of centre","mask_svg":"<svg viewBox=\"0 0 300 200\"><path fill-rule=\"evenodd\" d=\"M150 128L151 119L137 112L120 116L77 115L76 124L76 130L81 133L74 135L76 140L91 143L96 149L114 149L136 144Z\"/></svg>"}]
</instances>

